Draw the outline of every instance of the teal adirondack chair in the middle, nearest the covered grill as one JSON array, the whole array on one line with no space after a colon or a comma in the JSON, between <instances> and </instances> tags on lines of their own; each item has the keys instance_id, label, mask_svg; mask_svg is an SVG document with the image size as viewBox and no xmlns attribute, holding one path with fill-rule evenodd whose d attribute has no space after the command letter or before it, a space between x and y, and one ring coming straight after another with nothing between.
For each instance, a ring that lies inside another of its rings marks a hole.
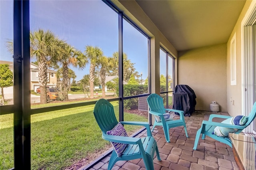
<instances>
[{"instance_id":1,"label":"teal adirondack chair in the middle, nearest the covered grill","mask_svg":"<svg viewBox=\"0 0 256 170\"><path fill-rule=\"evenodd\" d=\"M166 141L170 142L169 128L184 126L184 130L188 138L188 132L187 132L186 123L184 119L184 111L179 111L175 109L165 109L163 98L160 95L157 95L155 93L152 93L151 95L148 96L147 102L150 109L149 113L155 116L159 116L161 118L161 122L157 122L157 121L154 122L152 132L156 126L162 126L164 129L164 136L166 138ZM164 114L166 113L166 111L179 113L180 119L165 121Z\"/></svg>"}]
</instances>

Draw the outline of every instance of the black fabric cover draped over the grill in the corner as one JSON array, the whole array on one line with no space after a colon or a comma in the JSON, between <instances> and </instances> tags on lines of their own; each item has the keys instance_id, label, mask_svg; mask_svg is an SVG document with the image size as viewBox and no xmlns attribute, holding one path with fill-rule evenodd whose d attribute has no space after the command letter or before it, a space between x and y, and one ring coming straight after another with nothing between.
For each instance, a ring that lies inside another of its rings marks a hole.
<instances>
[{"instance_id":1,"label":"black fabric cover draped over the grill in the corner","mask_svg":"<svg viewBox=\"0 0 256 170\"><path fill-rule=\"evenodd\" d=\"M177 85L173 93L172 109L184 111L184 116L191 116L196 107L196 94L188 85ZM179 113L175 113L180 115Z\"/></svg>"}]
</instances>

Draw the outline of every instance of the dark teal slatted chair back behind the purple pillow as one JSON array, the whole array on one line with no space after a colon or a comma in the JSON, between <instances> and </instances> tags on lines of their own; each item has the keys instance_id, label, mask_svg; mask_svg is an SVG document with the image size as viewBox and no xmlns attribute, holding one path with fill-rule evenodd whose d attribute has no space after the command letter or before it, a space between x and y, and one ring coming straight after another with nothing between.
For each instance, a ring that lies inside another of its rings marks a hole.
<instances>
[{"instance_id":1,"label":"dark teal slatted chair back behind the purple pillow","mask_svg":"<svg viewBox=\"0 0 256 170\"><path fill-rule=\"evenodd\" d=\"M104 134L118 124L114 113L114 107L106 99L100 99L96 102L93 114Z\"/></svg>"}]
</instances>

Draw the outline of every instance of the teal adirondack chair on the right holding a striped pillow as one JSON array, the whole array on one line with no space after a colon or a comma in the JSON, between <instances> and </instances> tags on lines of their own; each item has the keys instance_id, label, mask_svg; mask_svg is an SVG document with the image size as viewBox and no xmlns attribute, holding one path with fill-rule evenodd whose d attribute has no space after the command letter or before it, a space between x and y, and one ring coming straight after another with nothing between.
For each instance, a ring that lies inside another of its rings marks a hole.
<instances>
[{"instance_id":1,"label":"teal adirondack chair on the right holding a striped pillow","mask_svg":"<svg viewBox=\"0 0 256 170\"><path fill-rule=\"evenodd\" d=\"M248 127L248 125L250 125L250 123L252 123L252 121L256 117L256 102L254 103L254 105L252 107L252 111L250 112L250 114L247 118L246 124L244 124L243 126L213 122L212 119L214 117L224 118L224 119L231 118L231 116L212 114L209 117L209 121L203 121L202 125L201 125L201 128L196 132L196 139L195 139L194 148L193 148L194 150L196 150L196 148L197 148L198 141L199 141L199 138L200 138L200 134L202 134L202 139L205 139L205 136L207 135L210 138L213 138L213 139L215 139L219 142L227 144L232 148L232 143L231 143L230 138L228 136L217 136L215 134L212 134L212 132L214 131L214 128L217 127L217 126L218 127L224 127L224 128L234 128L234 129L238 129L235 133L242 132L242 130L244 130L244 128Z\"/></svg>"}]
</instances>

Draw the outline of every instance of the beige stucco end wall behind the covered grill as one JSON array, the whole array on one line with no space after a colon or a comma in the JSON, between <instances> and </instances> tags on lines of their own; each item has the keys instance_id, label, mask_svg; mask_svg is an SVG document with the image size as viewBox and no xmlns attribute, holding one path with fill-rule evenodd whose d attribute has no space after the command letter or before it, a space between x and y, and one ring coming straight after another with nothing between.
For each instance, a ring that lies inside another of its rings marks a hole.
<instances>
[{"instance_id":1,"label":"beige stucco end wall behind the covered grill","mask_svg":"<svg viewBox=\"0 0 256 170\"><path fill-rule=\"evenodd\" d=\"M227 111L226 55L226 44L178 53L178 84L194 90L196 110L210 111L211 101L216 101L220 111Z\"/></svg>"}]
</instances>

